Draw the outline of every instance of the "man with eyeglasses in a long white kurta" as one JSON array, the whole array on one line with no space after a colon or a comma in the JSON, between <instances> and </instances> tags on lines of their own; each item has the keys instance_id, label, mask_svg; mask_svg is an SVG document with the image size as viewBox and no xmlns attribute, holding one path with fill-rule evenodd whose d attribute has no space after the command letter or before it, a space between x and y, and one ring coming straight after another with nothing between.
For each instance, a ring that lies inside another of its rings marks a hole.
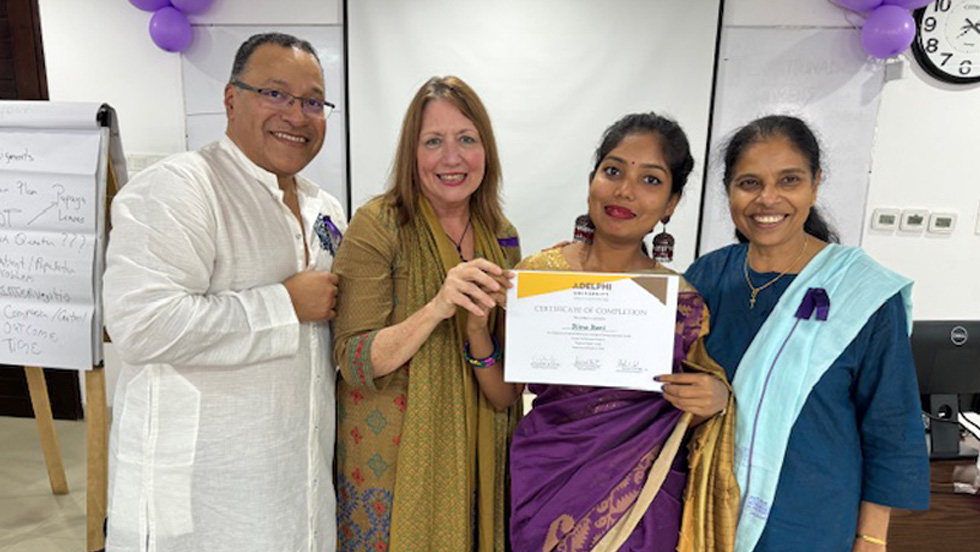
<instances>
[{"instance_id":1,"label":"man with eyeglasses in a long white kurta","mask_svg":"<svg viewBox=\"0 0 980 552\"><path fill-rule=\"evenodd\" d=\"M313 47L238 50L226 135L115 198L105 320L122 370L110 551L331 551L330 274L346 227L298 176L333 105Z\"/></svg>"}]
</instances>

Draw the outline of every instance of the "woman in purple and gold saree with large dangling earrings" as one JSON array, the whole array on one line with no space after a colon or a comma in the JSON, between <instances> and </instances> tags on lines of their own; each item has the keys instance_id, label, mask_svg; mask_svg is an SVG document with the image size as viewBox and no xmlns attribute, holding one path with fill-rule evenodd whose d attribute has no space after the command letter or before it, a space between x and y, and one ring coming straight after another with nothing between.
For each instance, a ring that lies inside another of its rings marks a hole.
<instances>
[{"instance_id":1,"label":"woman in purple and gold saree with large dangling earrings","mask_svg":"<svg viewBox=\"0 0 980 552\"><path fill-rule=\"evenodd\" d=\"M518 268L670 272L646 256L642 240L669 219L693 163L674 121L653 113L620 119L590 175L591 243L533 255ZM529 386L534 408L511 446L514 550L731 549L738 489L730 391L701 344L707 309L683 280L677 311L674 374L661 377L663 394ZM689 426L697 426L693 435Z\"/></svg>"}]
</instances>

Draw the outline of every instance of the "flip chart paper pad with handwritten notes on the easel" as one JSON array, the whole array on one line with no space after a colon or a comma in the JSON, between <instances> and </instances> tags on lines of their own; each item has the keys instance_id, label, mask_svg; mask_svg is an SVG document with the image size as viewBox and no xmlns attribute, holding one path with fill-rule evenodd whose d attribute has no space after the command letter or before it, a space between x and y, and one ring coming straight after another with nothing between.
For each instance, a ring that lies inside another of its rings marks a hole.
<instances>
[{"instance_id":1,"label":"flip chart paper pad with handwritten notes on the easel","mask_svg":"<svg viewBox=\"0 0 980 552\"><path fill-rule=\"evenodd\" d=\"M100 108L0 102L0 364L102 363L111 133Z\"/></svg>"}]
</instances>

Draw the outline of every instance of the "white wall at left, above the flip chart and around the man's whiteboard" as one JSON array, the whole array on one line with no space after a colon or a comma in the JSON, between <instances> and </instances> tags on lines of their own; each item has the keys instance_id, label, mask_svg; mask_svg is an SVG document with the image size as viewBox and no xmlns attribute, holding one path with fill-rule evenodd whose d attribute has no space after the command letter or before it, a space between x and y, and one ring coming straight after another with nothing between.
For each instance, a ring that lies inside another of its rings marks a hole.
<instances>
[{"instance_id":1,"label":"white wall at left, above the flip chart and around the man's whiteboard","mask_svg":"<svg viewBox=\"0 0 980 552\"><path fill-rule=\"evenodd\" d=\"M150 13L125 0L39 0L41 37L53 101L112 105L126 157L140 160L186 149L180 54L150 40ZM338 25L342 0L215 0L190 16L198 25ZM229 67L231 60L228 60ZM106 346L112 404L119 363ZM84 388L83 388L84 391Z\"/></svg>"}]
</instances>

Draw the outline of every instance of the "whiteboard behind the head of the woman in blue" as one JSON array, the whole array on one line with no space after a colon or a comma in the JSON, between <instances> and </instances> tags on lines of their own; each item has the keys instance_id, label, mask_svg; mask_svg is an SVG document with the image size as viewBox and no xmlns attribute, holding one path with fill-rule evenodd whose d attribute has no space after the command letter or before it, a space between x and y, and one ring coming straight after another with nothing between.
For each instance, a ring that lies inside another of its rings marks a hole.
<instances>
[{"instance_id":1,"label":"whiteboard behind the head of the woman in blue","mask_svg":"<svg viewBox=\"0 0 980 552\"><path fill-rule=\"evenodd\" d=\"M774 113L801 117L817 134L824 165L817 207L841 243L860 245L884 65L861 51L859 37L856 29L725 29L701 254L735 242L722 184L724 142Z\"/></svg>"}]
</instances>

